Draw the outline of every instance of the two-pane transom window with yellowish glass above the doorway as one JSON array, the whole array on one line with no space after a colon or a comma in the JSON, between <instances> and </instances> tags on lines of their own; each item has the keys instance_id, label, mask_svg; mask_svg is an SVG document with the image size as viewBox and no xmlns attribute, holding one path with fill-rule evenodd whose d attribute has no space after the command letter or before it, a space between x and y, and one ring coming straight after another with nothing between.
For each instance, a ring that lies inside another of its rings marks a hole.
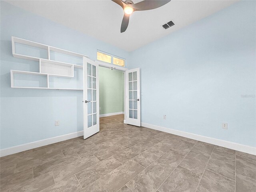
<instances>
[{"instance_id":1,"label":"two-pane transom window with yellowish glass above the doorway","mask_svg":"<svg viewBox=\"0 0 256 192\"><path fill-rule=\"evenodd\" d=\"M125 60L118 58L116 56L113 56L111 54L104 53L102 51L97 51L97 60L103 61L106 63L118 65L118 66L125 66Z\"/></svg>"}]
</instances>

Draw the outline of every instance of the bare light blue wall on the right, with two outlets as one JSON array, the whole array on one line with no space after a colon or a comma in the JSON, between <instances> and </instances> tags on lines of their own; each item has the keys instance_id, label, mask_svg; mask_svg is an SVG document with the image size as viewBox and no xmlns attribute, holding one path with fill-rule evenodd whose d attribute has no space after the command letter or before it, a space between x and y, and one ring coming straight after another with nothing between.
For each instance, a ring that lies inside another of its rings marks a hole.
<instances>
[{"instance_id":1,"label":"bare light blue wall on the right, with two outlets","mask_svg":"<svg viewBox=\"0 0 256 192\"><path fill-rule=\"evenodd\" d=\"M255 1L152 42L129 63L141 68L142 122L256 146Z\"/></svg>"}]
</instances>

